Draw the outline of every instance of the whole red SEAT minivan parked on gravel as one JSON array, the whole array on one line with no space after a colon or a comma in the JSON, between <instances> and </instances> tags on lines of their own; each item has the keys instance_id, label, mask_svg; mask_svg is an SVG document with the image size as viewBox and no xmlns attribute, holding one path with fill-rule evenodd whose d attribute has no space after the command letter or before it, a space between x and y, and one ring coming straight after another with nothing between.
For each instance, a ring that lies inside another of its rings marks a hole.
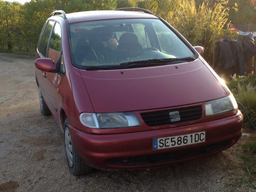
<instances>
[{"instance_id":1,"label":"whole red SEAT minivan parked on gravel","mask_svg":"<svg viewBox=\"0 0 256 192\"><path fill-rule=\"evenodd\" d=\"M70 173L163 166L234 145L243 116L202 53L145 9L54 11L36 83L41 113L64 132Z\"/></svg>"}]
</instances>

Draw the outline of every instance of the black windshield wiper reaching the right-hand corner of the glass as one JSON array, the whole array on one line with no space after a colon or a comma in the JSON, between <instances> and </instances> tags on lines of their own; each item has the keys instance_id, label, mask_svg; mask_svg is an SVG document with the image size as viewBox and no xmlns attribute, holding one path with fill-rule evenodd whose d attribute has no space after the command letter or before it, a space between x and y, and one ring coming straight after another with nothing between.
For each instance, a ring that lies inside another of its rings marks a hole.
<instances>
[{"instance_id":1,"label":"black windshield wiper reaching the right-hand corner of the glass","mask_svg":"<svg viewBox=\"0 0 256 192\"><path fill-rule=\"evenodd\" d=\"M194 61L195 57L184 57L184 58L168 58L168 59L148 59L142 61L131 61L120 63L120 66L134 66L134 65L155 65L159 63L171 64L176 61Z\"/></svg>"}]
</instances>

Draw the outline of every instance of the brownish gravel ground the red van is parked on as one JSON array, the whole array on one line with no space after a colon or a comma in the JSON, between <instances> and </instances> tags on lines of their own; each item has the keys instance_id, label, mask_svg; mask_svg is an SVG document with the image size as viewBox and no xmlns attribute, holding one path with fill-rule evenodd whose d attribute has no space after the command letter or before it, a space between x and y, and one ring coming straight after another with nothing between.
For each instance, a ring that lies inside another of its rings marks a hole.
<instances>
[{"instance_id":1,"label":"brownish gravel ground the red van is parked on","mask_svg":"<svg viewBox=\"0 0 256 192\"><path fill-rule=\"evenodd\" d=\"M63 133L40 113L34 71L32 58L0 53L0 191L255 191L241 182L236 145L164 168L72 176Z\"/></svg>"}]
</instances>

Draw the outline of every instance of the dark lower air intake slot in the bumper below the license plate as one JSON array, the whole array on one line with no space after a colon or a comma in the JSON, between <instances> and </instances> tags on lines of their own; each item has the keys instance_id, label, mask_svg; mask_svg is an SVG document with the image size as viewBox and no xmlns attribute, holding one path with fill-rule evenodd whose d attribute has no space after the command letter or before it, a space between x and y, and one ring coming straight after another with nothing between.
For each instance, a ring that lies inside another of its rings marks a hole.
<instances>
[{"instance_id":1,"label":"dark lower air intake slot in the bumper below the license plate","mask_svg":"<svg viewBox=\"0 0 256 192\"><path fill-rule=\"evenodd\" d=\"M106 160L107 163L112 165L123 165L123 166L136 166L136 165L154 165L156 163L171 163L179 160L186 160L189 158L195 158L197 156L206 155L220 151L223 147L227 147L231 144L231 140L195 147L191 149L184 149L180 151L171 151L160 154L150 154L133 157L123 158L111 158Z\"/></svg>"}]
</instances>

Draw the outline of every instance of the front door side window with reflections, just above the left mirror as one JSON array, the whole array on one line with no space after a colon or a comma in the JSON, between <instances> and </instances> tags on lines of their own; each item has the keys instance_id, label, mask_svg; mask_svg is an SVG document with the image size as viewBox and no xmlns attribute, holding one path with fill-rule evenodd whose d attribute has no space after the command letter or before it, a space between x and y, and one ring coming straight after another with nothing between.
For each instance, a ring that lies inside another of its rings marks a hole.
<instances>
[{"instance_id":1,"label":"front door side window with reflections, just above the left mirror","mask_svg":"<svg viewBox=\"0 0 256 192\"><path fill-rule=\"evenodd\" d=\"M48 57L57 63L61 53L61 26L56 23L50 38Z\"/></svg>"}]
</instances>

